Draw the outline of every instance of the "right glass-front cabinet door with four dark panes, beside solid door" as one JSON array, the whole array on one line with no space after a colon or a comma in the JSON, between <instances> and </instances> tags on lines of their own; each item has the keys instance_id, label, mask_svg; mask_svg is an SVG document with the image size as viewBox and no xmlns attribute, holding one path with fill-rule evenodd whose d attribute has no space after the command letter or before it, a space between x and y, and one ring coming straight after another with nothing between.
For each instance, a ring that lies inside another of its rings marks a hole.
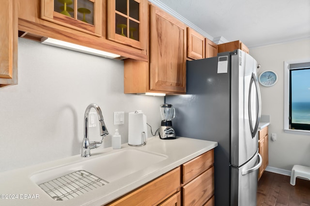
<instances>
[{"instance_id":1,"label":"right glass-front cabinet door with four dark panes, beside solid door","mask_svg":"<svg viewBox=\"0 0 310 206\"><path fill-rule=\"evenodd\" d=\"M143 50L146 23L146 0L108 0L109 40Z\"/></svg>"}]
</instances>

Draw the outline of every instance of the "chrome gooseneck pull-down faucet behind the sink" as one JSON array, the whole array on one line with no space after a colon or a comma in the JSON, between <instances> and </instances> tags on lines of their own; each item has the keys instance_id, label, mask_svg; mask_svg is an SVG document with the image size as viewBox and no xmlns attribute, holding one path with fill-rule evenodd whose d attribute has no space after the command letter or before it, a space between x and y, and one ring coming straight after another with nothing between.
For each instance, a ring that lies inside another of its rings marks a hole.
<instances>
[{"instance_id":1,"label":"chrome gooseneck pull-down faucet behind the sink","mask_svg":"<svg viewBox=\"0 0 310 206\"><path fill-rule=\"evenodd\" d=\"M98 118L99 118L99 124L100 124L100 136L102 136L102 139L100 142L90 142L88 139L88 116L91 108L94 108L97 112ZM104 136L108 135L109 132L107 130L105 121L103 120L102 112L100 107L95 104L91 103L88 105L88 107L85 110L85 115L84 115L84 138L83 138L83 143L82 143L82 152L81 152L81 157L89 157L91 156L91 149L100 147Z\"/></svg>"}]
</instances>

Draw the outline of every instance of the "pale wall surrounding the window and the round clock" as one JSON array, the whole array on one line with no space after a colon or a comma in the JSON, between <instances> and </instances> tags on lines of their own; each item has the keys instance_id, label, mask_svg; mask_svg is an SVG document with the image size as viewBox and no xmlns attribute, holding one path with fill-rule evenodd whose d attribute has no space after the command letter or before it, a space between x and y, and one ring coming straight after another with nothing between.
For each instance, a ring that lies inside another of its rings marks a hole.
<instances>
[{"instance_id":1,"label":"pale wall surrounding the window and the round clock","mask_svg":"<svg viewBox=\"0 0 310 206\"><path fill-rule=\"evenodd\" d=\"M279 75L279 81L275 86L263 87L260 85L262 114L271 116L269 166L283 170L291 170L294 164L310 166L310 135L283 132L283 62L309 59L310 39L252 48L250 55L262 64L259 74L265 70L273 70ZM277 141L271 141L271 133L277 133Z\"/></svg>"}]
</instances>

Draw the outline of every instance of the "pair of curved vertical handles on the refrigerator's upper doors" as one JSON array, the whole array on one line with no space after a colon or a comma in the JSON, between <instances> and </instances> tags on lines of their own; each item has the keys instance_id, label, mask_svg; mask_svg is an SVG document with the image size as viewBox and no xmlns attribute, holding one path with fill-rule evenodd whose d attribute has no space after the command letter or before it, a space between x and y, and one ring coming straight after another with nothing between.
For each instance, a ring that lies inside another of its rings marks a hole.
<instances>
[{"instance_id":1,"label":"pair of curved vertical handles on the refrigerator's upper doors","mask_svg":"<svg viewBox=\"0 0 310 206\"><path fill-rule=\"evenodd\" d=\"M252 115L251 115L251 90L252 90L252 84L253 83L254 83L255 89L256 89L256 103L257 103L256 121L255 121L254 128L252 125ZM249 88L249 94L248 94L248 116L249 116L248 119L249 119L249 123L250 123L250 130L251 130L252 138L254 138L254 136L258 130L258 124L259 124L260 117L261 117L261 93L260 93L258 82L256 80L256 76L254 73L252 73L252 76L251 76L250 88Z\"/></svg>"}]
</instances>

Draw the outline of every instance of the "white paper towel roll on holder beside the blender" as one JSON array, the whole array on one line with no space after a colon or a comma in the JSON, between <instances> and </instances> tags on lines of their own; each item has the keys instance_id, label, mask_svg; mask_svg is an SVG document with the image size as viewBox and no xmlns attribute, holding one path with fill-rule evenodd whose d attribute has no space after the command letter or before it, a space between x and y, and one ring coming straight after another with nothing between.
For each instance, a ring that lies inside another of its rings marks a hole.
<instances>
[{"instance_id":1,"label":"white paper towel roll on holder beside the blender","mask_svg":"<svg viewBox=\"0 0 310 206\"><path fill-rule=\"evenodd\" d=\"M128 115L128 145L142 146L145 145L146 139L146 116L142 111L130 112Z\"/></svg>"}]
</instances>

